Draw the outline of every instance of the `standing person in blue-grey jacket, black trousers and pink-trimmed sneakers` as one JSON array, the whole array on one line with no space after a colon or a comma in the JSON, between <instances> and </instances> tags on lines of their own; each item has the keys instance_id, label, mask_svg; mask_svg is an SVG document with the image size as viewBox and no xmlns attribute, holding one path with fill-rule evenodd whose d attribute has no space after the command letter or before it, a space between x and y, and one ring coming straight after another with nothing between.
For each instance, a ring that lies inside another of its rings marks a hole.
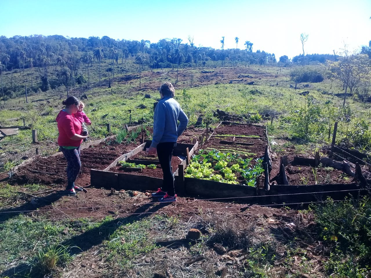
<instances>
[{"instance_id":1,"label":"standing person in blue-grey jacket, black trousers and pink-trimmed sneakers","mask_svg":"<svg viewBox=\"0 0 371 278\"><path fill-rule=\"evenodd\" d=\"M175 202L177 200L173 173L171 172L171 157L177 145L178 137L188 124L187 115L174 99L174 93L174 87L170 82L165 82L160 87L161 99L154 111L153 138L152 144L148 148L148 154L150 155L157 152L164 173L162 188L152 193L152 197L160 197L160 202Z\"/></svg>"}]
</instances>

